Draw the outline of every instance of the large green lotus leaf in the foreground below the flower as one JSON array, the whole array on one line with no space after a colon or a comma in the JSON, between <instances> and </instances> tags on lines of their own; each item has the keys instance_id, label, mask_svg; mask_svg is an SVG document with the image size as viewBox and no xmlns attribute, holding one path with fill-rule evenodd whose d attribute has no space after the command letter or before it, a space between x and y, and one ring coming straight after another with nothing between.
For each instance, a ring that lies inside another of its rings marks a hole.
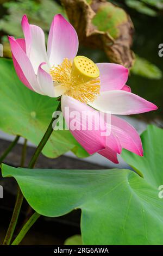
<instances>
[{"instance_id":1,"label":"large green lotus leaf in the foreground below the flower","mask_svg":"<svg viewBox=\"0 0 163 256\"><path fill-rule=\"evenodd\" d=\"M82 209L84 245L163 244L163 201L157 188L131 170L31 170L3 164L2 175L17 180L41 215Z\"/></svg>"}]
</instances>

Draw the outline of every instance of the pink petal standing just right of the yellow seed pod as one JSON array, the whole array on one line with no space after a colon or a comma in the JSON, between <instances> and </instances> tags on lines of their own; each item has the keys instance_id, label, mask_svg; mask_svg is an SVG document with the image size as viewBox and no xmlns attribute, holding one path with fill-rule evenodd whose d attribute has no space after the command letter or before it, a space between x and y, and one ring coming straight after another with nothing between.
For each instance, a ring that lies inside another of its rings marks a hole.
<instances>
[{"instance_id":1,"label":"pink petal standing just right of the yellow seed pod","mask_svg":"<svg viewBox=\"0 0 163 256\"><path fill-rule=\"evenodd\" d=\"M101 92L121 90L128 80L128 69L114 63L97 63L101 80Z\"/></svg>"}]
</instances>

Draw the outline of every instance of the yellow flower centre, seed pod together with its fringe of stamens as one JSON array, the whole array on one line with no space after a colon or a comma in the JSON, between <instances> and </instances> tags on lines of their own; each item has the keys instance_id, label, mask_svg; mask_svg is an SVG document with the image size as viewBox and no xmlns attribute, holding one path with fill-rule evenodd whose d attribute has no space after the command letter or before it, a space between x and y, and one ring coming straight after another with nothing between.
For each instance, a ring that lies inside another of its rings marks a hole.
<instances>
[{"instance_id":1,"label":"yellow flower centre, seed pod together with its fringe of stamens","mask_svg":"<svg viewBox=\"0 0 163 256\"><path fill-rule=\"evenodd\" d=\"M54 82L65 87L65 95L76 100L89 103L99 95L99 70L92 60L84 56L77 56L73 63L65 58L61 65L52 66L50 74Z\"/></svg>"}]
</instances>

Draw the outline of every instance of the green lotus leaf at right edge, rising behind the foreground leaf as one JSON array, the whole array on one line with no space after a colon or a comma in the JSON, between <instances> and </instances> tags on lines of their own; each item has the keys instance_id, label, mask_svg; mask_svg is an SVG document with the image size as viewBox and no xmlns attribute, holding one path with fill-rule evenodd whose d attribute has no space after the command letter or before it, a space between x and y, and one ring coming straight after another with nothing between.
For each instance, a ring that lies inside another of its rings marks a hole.
<instances>
[{"instance_id":1,"label":"green lotus leaf at right edge, rising behind the foreground leaf","mask_svg":"<svg viewBox=\"0 0 163 256\"><path fill-rule=\"evenodd\" d=\"M127 150L123 150L122 157L137 172L140 172L149 184L158 188L163 185L163 130L149 125L142 133L141 140L143 157Z\"/></svg>"}]
</instances>

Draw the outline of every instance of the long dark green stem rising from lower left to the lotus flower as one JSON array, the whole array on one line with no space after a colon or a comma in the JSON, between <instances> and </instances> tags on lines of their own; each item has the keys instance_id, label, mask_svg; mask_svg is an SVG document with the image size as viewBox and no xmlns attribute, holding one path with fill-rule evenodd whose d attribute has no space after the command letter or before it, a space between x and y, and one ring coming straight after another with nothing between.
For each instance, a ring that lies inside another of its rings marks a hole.
<instances>
[{"instance_id":1,"label":"long dark green stem rising from lower left to the lotus flower","mask_svg":"<svg viewBox=\"0 0 163 256\"><path fill-rule=\"evenodd\" d=\"M60 111L61 109L61 103L59 101L59 105L57 107L57 110L56 111ZM53 122L58 119L58 118L52 118L51 120L51 123L49 124L46 132L45 132L45 135L43 135L39 145L37 146L36 150L35 150L35 153L34 155L32 156L32 159L30 160L30 163L28 164L28 168L32 169L34 168L34 165L36 163L36 160L38 159L43 147L45 146L45 144L47 143L49 137L51 136L52 132L53 132ZM23 194L22 192L20 191L20 188L19 188L19 191L18 191L18 194L17 194L17 200L16 200L16 204L15 204L15 208L14 208L14 212L13 212L13 215L11 218L11 222L10 222L10 225L9 225L9 229L7 231L7 235L5 236L5 239L4 239L4 243L3 245L10 245L10 242L11 242L11 239L12 239L12 236L13 236L13 233L14 233L14 230L15 230L15 227L16 227L16 223L17 223L17 219L18 219L18 216L20 214L20 209L21 209L21 206L22 206L22 202L23 202ZM29 219L30 220L30 219ZM27 222L28 223L28 222ZM26 224L27 224L26 223ZM26 225L25 224L25 225ZM32 224L33 225L33 224ZM29 229L32 225L29 225ZM10 228L10 226L12 228ZM22 228L23 229L23 228ZM27 229L28 231L28 229ZM26 231L26 233L27 233ZM25 234L24 234L25 235ZM19 236L19 234L18 234ZM24 236L23 236L24 237ZM22 237L22 239L23 239ZM21 241L21 240L20 240Z\"/></svg>"}]
</instances>

